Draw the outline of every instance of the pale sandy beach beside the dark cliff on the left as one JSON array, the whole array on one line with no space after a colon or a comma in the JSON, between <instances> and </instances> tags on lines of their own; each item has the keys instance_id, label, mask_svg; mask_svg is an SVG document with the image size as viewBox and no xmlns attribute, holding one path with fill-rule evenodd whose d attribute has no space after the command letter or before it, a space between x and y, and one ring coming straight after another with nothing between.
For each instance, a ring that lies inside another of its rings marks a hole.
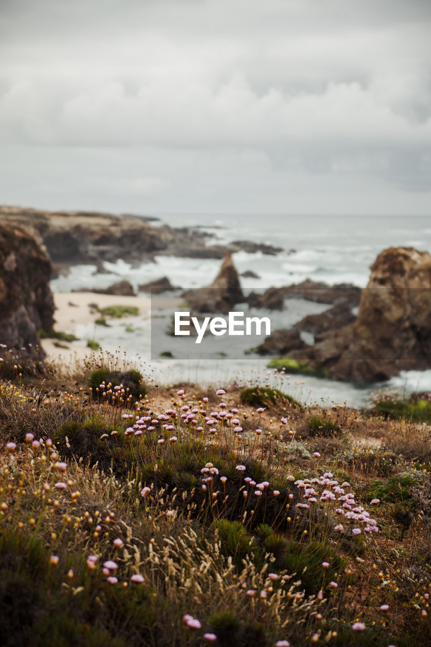
<instances>
[{"instance_id":1,"label":"pale sandy beach beside the dark cliff on the left","mask_svg":"<svg viewBox=\"0 0 431 647\"><path fill-rule=\"evenodd\" d=\"M75 334L76 325L92 323L102 315L89 307L90 303L96 303L99 308L108 305L133 305L139 309L140 316L149 314L151 300L149 296L113 296L111 294L94 294L94 292L55 292L54 303L54 329L61 333ZM107 318L109 319L109 318ZM124 320L127 315L124 316ZM116 319L116 322L119 320ZM68 366L76 364L77 361L90 357L94 353L87 347L85 342L60 342L69 348L58 348L54 344L55 339L41 340L41 346L51 362L60 362Z\"/></svg>"}]
</instances>

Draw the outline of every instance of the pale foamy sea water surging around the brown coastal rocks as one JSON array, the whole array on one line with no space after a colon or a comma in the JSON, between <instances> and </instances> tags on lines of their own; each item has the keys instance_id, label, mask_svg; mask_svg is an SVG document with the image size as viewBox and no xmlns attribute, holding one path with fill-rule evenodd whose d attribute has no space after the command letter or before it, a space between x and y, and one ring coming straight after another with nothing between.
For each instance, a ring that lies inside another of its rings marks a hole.
<instances>
[{"instance_id":1,"label":"pale foamy sea water surging around the brown coastal rocks","mask_svg":"<svg viewBox=\"0 0 431 647\"><path fill-rule=\"evenodd\" d=\"M256 278L241 278L243 290L256 291L268 287L281 287L299 283L305 279L324 281L328 285L352 283L366 287L370 266L378 254L388 247L414 247L431 253L431 218L426 216L362 216L362 215L270 215L270 214L156 214L158 221L203 230L207 235L206 245L228 244L248 240L281 247L282 252L269 256L257 252L234 254L234 264L239 274L252 270ZM172 285L182 289L203 287L214 280L220 268L219 259L177 258L156 256L154 261L139 265L127 263L127 259L104 263L104 274L96 274L92 265L71 267L67 276L51 281L53 292L70 292L73 289L108 287L118 280L126 279L137 289L146 283L167 276ZM96 301L96 298L94 299ZM276 327L289 327L305 314L321 312L322 304L289 300L287 311L278 313ZM160 331L168 329L160 309ZM153 319L154 325L154 319ZM283 377L266 369L269 358L245 355L212 358L204 356L151 358L151 319L148 314L127 317L114 322L111 328L75 325L74 332L82 340L95 338L102 348L111 353L122 353L138 364L146 378L160 384L197 382L203 386L227 387L233 382L243 384L274 384L297 399L311 404L346 401L348 406L365 406L371 391L378 389L398 390L405 393L431 391L431 370L408 371L388 382L359 386L349 382L327 380L305 375ZM159 324L158 324L159 327ZM274 329L274 328L273 328ZM69 331L67 331L69 332ZM163 334L165 334L163 332ZM170 350L170 338L166 334L166 351ZM244 347L244 351L246 348Z\"/></svg>"}]
</instances>

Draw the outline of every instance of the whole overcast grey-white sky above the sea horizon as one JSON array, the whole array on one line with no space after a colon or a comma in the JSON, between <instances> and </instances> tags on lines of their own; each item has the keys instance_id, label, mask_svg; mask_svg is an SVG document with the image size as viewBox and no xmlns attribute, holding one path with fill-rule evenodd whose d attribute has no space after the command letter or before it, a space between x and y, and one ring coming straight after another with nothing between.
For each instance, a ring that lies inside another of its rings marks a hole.
<instances>
[{"instance_id":1,"label":"whole overcast grey-white sky above the sea horizon","mask_svg":"<svg viewBox=\"0 0 431 647\"><path fill-rule=\"evenodd\" d=\"M430 0L0 0L0 203L431 214Z\"/></svg>"}]
</instances>

